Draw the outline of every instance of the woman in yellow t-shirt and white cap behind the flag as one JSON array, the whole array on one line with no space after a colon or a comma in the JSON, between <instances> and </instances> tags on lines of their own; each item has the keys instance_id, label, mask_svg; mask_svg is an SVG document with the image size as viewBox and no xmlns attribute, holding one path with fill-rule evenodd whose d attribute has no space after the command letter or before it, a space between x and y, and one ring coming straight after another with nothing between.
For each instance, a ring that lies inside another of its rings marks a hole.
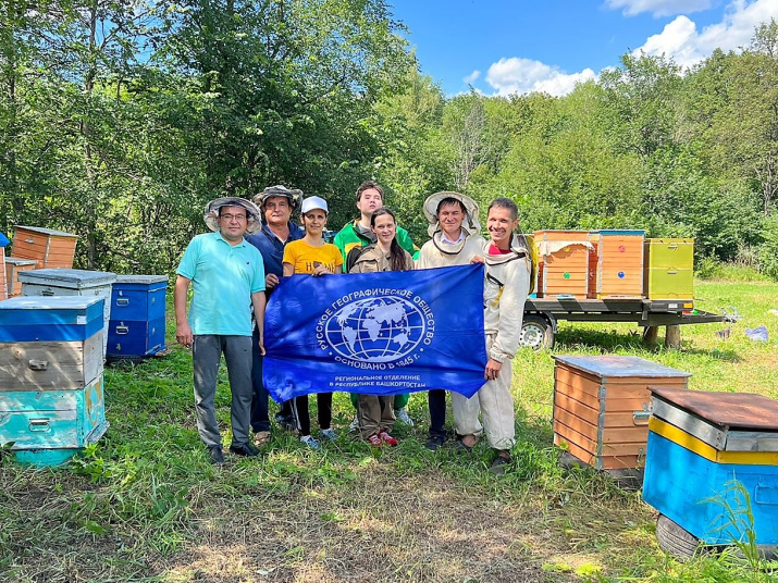
<instances>
[{"instance_id":1,"label":"woman in yellow t-shirt and white cap behind the flag","mask_svg":"<svg viewBox=\"0 0 778 583\"><path fill-rule=\"evenodd\" d=\"M320 197L309 197L300 206L300 218L306 235L284 247L284 276L296 273L310 273L313 276L335 274L343 271L343 257L334 245L324 243L323 232L326 226L326 201ZM332 393L317 394L317 418L323 437L333 441L337 437L332 424ZM319 442L311 436L308 395L296 397L292 401L292 413L300 432L300 442L317 448Z\"/></svg>"}]
</instances>

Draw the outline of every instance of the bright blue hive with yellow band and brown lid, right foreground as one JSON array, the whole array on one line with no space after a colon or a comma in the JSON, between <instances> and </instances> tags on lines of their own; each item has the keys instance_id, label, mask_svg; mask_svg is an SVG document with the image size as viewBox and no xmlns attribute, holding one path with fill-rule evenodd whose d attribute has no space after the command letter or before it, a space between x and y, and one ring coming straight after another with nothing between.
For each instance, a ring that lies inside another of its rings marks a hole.
<instances>
[{"instance_id":1,"label":"bright blue hive with yellow band and brown lid, right foreground","mask_svg":"<svg viewBox=\"0 0 778 583\"><path fill-rule=\"evenodd\" d=\"M650 388L643 499L700 543L752 531L757 545L778 545L778 401Z\"/></svg>"}]
</instances>

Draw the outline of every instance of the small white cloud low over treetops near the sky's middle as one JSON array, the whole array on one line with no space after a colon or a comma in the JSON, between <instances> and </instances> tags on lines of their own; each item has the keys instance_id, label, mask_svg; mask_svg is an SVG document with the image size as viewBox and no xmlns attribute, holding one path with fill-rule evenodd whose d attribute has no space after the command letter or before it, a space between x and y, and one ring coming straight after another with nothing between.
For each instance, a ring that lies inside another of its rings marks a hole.
<instances>
[{"instance_id":1,"label":"small white cloud low over treetops near the sky's middle","mask_svg":"<svg viewBox=\"0 0 778 583\"><path fill-rule=\"evenodd\" d=\"M568 74L540 61L511 57L492 63L485 78L499 96L543 91L558 97L572 91L577 83L596 77L591 69Z\"/></svg>"}]
</instances>

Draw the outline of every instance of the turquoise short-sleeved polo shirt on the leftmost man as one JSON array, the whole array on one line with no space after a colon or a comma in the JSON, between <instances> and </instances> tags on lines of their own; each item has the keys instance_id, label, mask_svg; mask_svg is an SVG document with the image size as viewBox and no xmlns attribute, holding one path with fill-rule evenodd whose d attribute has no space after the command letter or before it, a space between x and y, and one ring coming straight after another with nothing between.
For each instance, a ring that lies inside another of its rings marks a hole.
<instances>
[{"instance_id":1,"label":"turquoise short-sleeved polo shirt on the leftmost man","mask_svg":"<svg viewBox=\"0 0 778 583\"><path fill-rule=\"evenodd\" d=\"M262 255L243 239L230 245L219 232L198 235L176 270L192 280L193 334L251 335L251 294L264 290Z\"/></svg>"}]
</instances>

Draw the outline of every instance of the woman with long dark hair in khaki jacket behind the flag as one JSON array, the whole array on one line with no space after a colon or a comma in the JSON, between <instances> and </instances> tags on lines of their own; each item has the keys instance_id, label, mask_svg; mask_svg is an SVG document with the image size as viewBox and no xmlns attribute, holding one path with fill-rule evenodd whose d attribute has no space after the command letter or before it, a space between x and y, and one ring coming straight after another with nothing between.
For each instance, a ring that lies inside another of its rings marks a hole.
<instances>
[{"instance_id":1,"label":"woman with long dark hair in khaki jacket behind the flag","mask_svg":"<svg viewBox=\"0 0 778 583\"><path fill-rule=\"evenodd\" d=\"M363 248L349 273L379 273L413 269L410 253L397 243L397 220L386 207L375 210L370 218L370 228L376 240ZM358 395L357 419L361 437L374 447L396 446L392 436L394 426L394 395Z\"/></svg>"}]
</instances>

